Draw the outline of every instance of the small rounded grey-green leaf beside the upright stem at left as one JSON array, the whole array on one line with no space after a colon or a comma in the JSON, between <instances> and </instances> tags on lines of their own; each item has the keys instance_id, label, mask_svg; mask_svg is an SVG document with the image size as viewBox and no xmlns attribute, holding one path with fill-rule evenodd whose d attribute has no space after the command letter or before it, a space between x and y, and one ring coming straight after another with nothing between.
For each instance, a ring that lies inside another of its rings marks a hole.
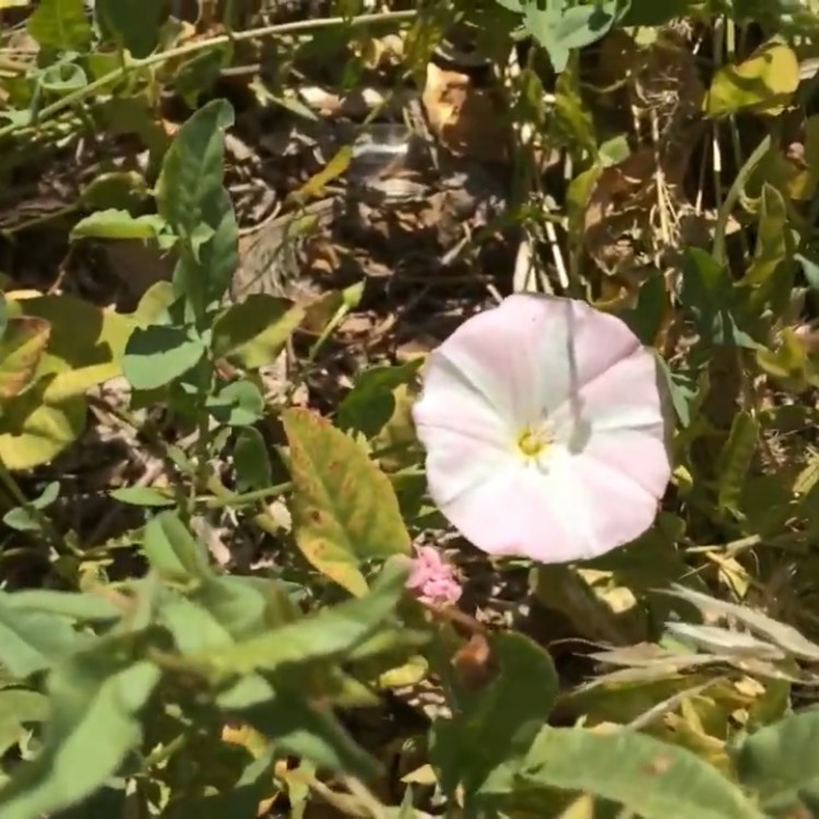
<instances>
[{"instance_id":1,"label":"small rounded grey-green leaf beside the upright stem at left","mask_svg":"<svg viewBox=\"0 0 819 819\"><path fill-rule=\"evenodd\" d=\"M206 348L185 328L136 328L126 345L122 371L136 390L156 390L195 367Z\"/></svg>"}]
</instances>

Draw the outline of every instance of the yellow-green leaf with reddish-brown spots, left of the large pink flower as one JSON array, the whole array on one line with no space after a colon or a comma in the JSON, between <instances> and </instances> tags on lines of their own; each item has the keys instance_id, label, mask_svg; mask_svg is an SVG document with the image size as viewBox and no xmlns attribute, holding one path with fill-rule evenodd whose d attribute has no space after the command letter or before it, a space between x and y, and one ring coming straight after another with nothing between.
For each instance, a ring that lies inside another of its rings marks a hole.
<instances>
[{"instance_id":1,"label":"yellow-green leaf with reddish-brown spots, left of the large pink flower","mask_svg":"<svg viewBox=\"0 0 819 819\"><path fill-rule=\"evenodd\" d=\"M411 549L392 486L352 438L323 418L292 408L282 419L296 543L323 574L352 594L365 594L361 561Z\"/></svg>"}]
</instances>

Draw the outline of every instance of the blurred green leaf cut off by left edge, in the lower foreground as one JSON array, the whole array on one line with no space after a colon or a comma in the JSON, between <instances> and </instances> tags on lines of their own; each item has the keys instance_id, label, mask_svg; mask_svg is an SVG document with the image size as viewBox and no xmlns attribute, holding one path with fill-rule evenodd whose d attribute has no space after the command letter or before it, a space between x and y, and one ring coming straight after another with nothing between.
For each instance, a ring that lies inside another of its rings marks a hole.
<instances>
[{"instance_id":1,"label":"blurred green leaf cut off by left edge, in the lower foreground","mask_svg":"<svg viewBox=\"0 0 819 819\"><path fill-rule=\"evenodd\" d=\"M8 592L0 593L0 664L15 677L50 668L79 648L80 634L64 619L41 612L16 609Z\"/></svg>"}]
</instances>

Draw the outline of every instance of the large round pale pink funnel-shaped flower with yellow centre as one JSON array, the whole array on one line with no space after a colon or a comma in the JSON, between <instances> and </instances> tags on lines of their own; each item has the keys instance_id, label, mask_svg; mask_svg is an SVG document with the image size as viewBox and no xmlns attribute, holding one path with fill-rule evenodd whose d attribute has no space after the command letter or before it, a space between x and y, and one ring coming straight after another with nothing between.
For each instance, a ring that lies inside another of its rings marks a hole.
<instances>
[{"instance_id":1,"label":"large round pale pink funnel-shaped flower with yellow centre","mask_svg":"<svg viewBox=\"0 0 819 819\"><path fill-rule=\"evenodd\" d=\"M670 477L661 383L620 319L510 296L429 356L413 416L430 495L491 555L563 562L629 543Z\"/></svg>"}]
</instances>

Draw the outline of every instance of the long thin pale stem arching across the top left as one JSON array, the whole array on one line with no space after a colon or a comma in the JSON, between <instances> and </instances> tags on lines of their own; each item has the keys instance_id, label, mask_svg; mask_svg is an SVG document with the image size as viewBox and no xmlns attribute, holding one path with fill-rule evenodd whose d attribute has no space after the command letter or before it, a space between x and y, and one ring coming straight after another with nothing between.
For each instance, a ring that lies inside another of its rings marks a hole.
<instances>
[{"instance_id":1,"label":"long thin pale stem arching across the top left","mask_svg":"<svg viewBox=\"0 0 819 819\"><path fill-rule=\"evenodd\" d=\"M117 68L114 71L109 71L107 74L94 80L93 82L84 85L82 88L78 88L71 94L67 94L64 97L57 99L51 105L45 106L37 116L37 123L40 123L47 119L55 117L66 108L70 108L76 103L82 102L85 97L91 96L95 92L104 88L108 83L117 80L118 78L126 76L130 71L139 71L140 69L151 68L161 62L173 60L177 57L186 57L197 51L204 51L209 48L217 48L218 46L228 45L230 43L241 43L242 40L260 39L262 37L275 37L283 34L297 34L299 32L311 32L321 28L332 28L339 25L346 25L352 27L363 27L372 25L376 23L396 23L403 21L414 20L417 15L417 11L384 11L377 14L359 14L354 17L320 17L317 20L299 20L293 23L280 23L277 25L266 25L259 28L248 28L244 32L233 32L230 34L221 34L216 37L210 37L207 39L195 40L194 43L186 43L183 46L171 48L167 51L161 51L159 54L149 55L142 59L134 60L127 58L124 64ZM0 138L8 136L20 129L17 124L10 124L5 128L0 128Z\"/></svg>"}]
</instances>

